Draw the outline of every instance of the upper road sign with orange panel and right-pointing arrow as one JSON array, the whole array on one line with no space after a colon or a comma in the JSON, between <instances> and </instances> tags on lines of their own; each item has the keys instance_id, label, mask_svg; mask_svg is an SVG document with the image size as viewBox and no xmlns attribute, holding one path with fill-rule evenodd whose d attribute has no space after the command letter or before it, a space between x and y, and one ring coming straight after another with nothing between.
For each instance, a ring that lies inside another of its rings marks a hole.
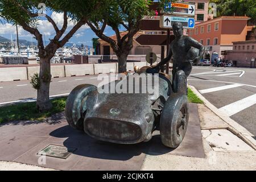
<instances>
[{"instance_id":1,"label":"upper road sign with orange panel and right-pointing arrow","mask_svg":"<svg viewBox=\"0 0 256 182\"><path fill-rule=\"evenodd\" d=\"M164 14L195 16L196 6L189 3L171 3L164 6Z\"/></svg>"}]
</instances>

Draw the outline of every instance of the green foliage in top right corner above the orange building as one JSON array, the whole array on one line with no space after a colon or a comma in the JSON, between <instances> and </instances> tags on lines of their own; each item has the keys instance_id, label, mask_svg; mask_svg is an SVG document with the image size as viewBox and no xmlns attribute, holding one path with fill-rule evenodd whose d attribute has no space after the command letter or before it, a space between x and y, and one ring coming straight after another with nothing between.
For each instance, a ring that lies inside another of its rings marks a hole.
<instances>
[{"instance_id":1,"label":"green foliage in top right corner above the orange building","mask_svg":"<svg viewBox=\"0 0 256 182\"><path fill-rule=\"evenodd\" d=\"M210 0L216 3L218 16L244 16L251 18L251 24L256 23L256 1L255 0Z\"/></svg>"}]
</instances>

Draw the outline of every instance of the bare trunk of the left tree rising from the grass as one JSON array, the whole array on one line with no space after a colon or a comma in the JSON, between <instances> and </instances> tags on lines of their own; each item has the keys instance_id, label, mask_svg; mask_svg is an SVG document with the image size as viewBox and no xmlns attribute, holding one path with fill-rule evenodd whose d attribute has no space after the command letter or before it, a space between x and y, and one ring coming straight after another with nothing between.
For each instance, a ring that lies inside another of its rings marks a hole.
<instances>
[{"instance_id":1,"label":"bare trunk of the left tree rising from the grass","mask_svg":"<svg viewBox=\"0 0 256 182\"><path fill-rule=\"evenodd\" d=\"M36 100L36 108L39 111L47 111L52 108L51 101L49 100L49 85L51 82L51 58L40 57L40 88L38 90L38 98Z\"/></svg>"}]
</instances>

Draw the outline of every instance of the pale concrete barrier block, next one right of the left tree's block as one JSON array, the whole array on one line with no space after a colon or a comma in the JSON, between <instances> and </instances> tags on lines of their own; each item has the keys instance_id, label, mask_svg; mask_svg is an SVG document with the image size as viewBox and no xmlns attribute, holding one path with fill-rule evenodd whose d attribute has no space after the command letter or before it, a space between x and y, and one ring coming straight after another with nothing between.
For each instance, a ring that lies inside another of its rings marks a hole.
<instances>
[{"instance_id":1,"label":"pale concrete barrier block, next one right of the left tree's block","mask_svg":"<svg viewBox=\"0 0 256 182\"><path fill-rule=\"evenodd\" d=\"M66 76L94 75L93 64L65 65Z\"/></svg>"}]
</instances>

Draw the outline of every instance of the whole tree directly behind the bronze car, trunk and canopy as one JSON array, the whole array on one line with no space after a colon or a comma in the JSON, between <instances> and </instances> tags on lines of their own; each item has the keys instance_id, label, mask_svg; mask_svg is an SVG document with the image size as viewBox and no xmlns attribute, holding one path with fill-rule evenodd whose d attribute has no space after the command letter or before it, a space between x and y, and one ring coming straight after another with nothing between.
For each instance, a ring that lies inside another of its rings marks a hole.
<instances>
[{"instance_id":1,"label":"whole tree directly behind the bronze car, trunk and canopy","mask_svg":"<svg viewBox=\"0 0 256 182\"><path fill-rule=\"evenodd\" d=\"M133 48L133 36L139 31L139 23L150 10L148 5L152 1L147 0L109 0L102 14L92 16L88 25L95 34L105 42L108 42L118 57L118 72L126 72L127 55ZM112 27L117 40L104 35L106 26ZM124 27L127 34L120 36L119 29Z\"/></svg>"}]
</instances>

